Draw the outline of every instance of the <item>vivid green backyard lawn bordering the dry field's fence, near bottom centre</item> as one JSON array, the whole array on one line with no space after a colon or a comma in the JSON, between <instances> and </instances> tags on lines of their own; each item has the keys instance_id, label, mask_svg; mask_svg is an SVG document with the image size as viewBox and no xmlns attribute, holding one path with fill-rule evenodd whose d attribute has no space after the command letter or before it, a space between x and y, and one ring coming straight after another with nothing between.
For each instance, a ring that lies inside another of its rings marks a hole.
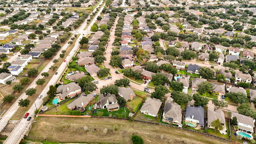
<instances>
[{"instance_id":1,"label":"vivid green backyard lawn bordering the dry field's fence, near bottom centre","mask_svg":"<svg viewBox=\"0 0 256 144\"><path fill-rule=\"evenodd\" d=\"M126 110L126 111L125 111ZM129 109L120 106L119 110L108 112L107 109L97 109L98 113L93 113L93 116L105 116L105 117L118 117L118 118L128 118L128 115L130 113ZM101 115L103 112L103 115Z\"/></svg>"}]
</instances>

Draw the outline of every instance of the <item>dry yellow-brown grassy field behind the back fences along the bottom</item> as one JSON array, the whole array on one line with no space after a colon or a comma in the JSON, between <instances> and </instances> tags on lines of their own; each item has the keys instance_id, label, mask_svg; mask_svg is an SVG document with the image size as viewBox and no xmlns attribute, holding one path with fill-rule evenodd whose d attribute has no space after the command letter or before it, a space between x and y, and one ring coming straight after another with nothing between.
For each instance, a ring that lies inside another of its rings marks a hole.
<instances>
[{"instance_id":1,"label":"dry yellow-brown grassy field behind the back fences along the bottom","mask_svg":"<svg viewBox=\"0 0 256 144\"><path fill-rule=\"evenodd\" d=\"M127 120L98 118L38 117L26 139L59 143L131 144L139 135L144 144L229 144L189 131ZM114 125L117 130L113 129ZM85 131L84 127L88 130ZM107 128L107 133L103 131Z\"/></svg>"}]
</instances>

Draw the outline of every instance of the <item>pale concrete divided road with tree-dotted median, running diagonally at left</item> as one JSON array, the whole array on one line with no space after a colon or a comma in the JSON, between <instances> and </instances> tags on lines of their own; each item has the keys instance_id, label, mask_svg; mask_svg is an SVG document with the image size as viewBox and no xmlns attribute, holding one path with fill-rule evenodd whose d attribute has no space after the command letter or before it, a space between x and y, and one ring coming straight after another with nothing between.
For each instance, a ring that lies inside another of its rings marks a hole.
<instances>
[{"instance_id":1,"label":"pale concrete divided road with tree-dotted median, running diagonally at left","mask_svg":"<svg viewBox=\"0 0 256 144\"><path fill-rule=\"evenodd\" d=\"M97 6L99 7L100 4ZM101 11L103 10L104 6L100 9L100 11L98 12L98 14L95 16L93 21L96 21L97 17L100 15ZM96 10L97 8L95 8ZM89 17L88 17L89 18ZM86 19L87 20L87 19ZM79 30L83 30L86 26L86 21L82 24L82 26L79 28ZM93 22L88 26L87 29L90 29L90 27L92 26ZM82 31L84 32L84 31ZM72 60L72 57L76 54L76 51L79 49L79 41L80 39L82 39L83 34L87 35L89 31L85 31L85 33L81 33L81 35L79 36L79 38L77 39L77 41L75 41L75 46L73 47L73 49L71 50L71 52L69 53L70 56L68 56L66 58L67 62L70 62ZM69 41L69 40L68 40ZM61 54L62 50L65 50L68 47L68 43L66 42L64 44L64 46L59 50L59 52L55 55L54 59L58 59L59 55ZM53 65L53 62L49 62L45 68L43 69L43 72L47 72L49 70L49 67ZM43 97L41 99L37 99L35 101L36 104L32 105L30 107L30 109L27 111L30 113L29 116L33 116L34 115L34 111L36 110L35 105L40 106L43 103L43 98L47 96L47 91L49 90L49 86L50 85L54 85L56 82L58 82L59 78L62 76L62 72L65 70L66 68L66 62L63 62L61 64L61 66L58 68L57 75L54 75L51 78L51 81L47 83L47 85L44 87L41 95L43 95ZM41 76L41 73L38 75L38 77L29 85L28 88L33 88L36 87L36 81L38 79L43 78L43 76ZM2 131L2 129L5 127L5 125L8 123L8 121L12 118L12 116L15 114L15 112L18 110L18 108L20 107L18 105L18 101L20 99L26 99L27 95L25 95L25 93L21 94L21 96L19 97L19 99L16 100L16 102L8 109L8 111L3 115L2 119L0 120L0 131ZM37 107L39 108L39 107ZM33 120L31 120L33 121ZM25 128L29 127L31 123L29 123L30 121L27 121L26 119L21 119L20 123L17 124L17 126L13 129L12 133L10 134L10 136L6 139L6 141L4 142L4 144L19 144L21 139L23 138L23 135L25 134L26 131Z\"/></svg>"}]
</instances>

